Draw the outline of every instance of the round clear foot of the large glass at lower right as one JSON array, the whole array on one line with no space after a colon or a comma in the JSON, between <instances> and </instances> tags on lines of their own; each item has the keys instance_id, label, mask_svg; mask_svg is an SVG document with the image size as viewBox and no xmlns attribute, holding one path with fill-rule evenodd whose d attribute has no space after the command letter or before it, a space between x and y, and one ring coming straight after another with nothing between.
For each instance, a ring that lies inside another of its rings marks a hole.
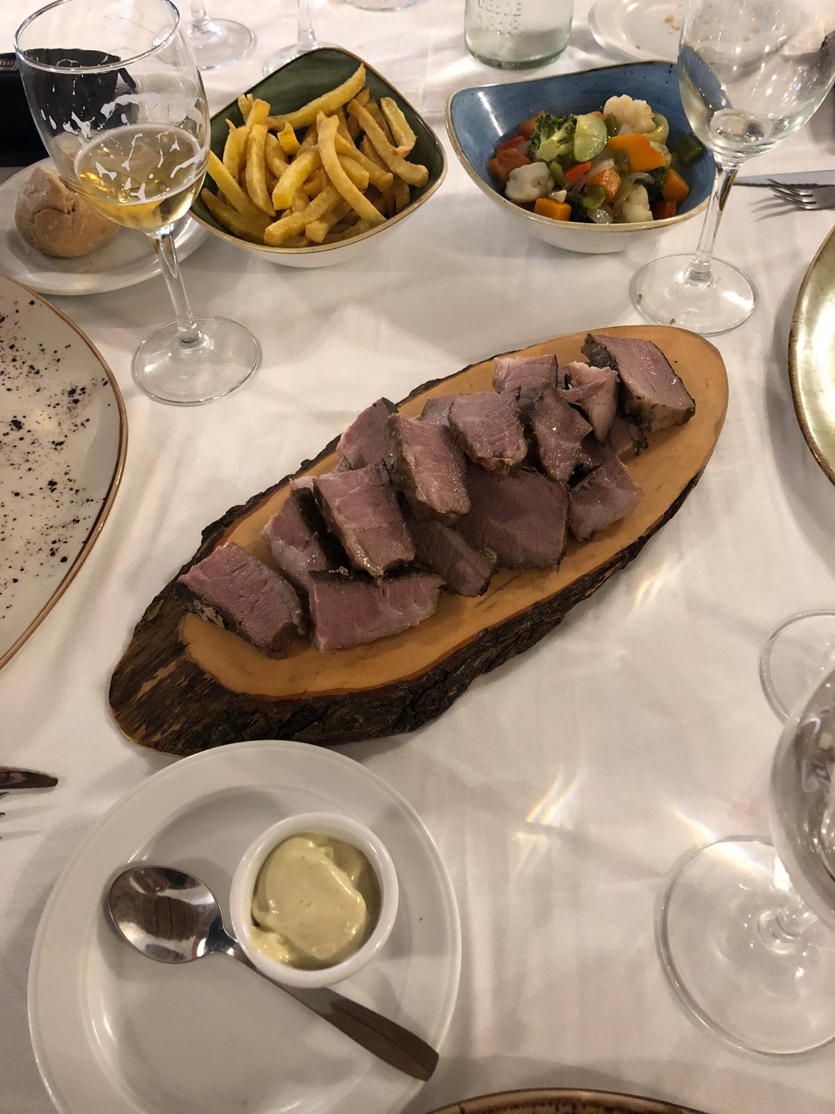
<instances>
[{"instance_id":1,"label":"round clear foot of the large glass at lower right","mask_svg":"<svg viewBox=\"0 0 835 1114\"><path fill-rule=\"evenodd\" d=\"M815 921L803 938L772 934L785 902L766 840L719 840L675 869L657 944L684 1005L730 1044L772 1056L835 1039L835 936Z\"/></svg>"}]
</instances>

